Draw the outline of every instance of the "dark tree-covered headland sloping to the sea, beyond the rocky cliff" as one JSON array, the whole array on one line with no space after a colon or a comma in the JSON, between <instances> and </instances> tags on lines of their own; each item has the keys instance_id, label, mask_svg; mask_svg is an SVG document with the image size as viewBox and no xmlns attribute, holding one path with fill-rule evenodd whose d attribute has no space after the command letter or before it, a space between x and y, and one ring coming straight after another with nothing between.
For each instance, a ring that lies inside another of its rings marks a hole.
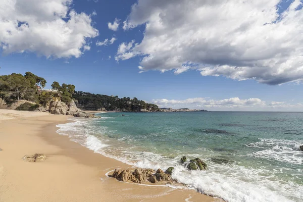
<instances>
[{"instance_id":1,"label":"dark tree-covered headland sloping to the sea, beyond the rocky cliff","mask_svg":"<svg viewBox=\"0 0 303 202\"><path fill-rule=\"evenodd\" d=\"M98 110L105 108L108 111L140 112L140 110L158 111L157 105L145 103L136 97L109 96L75 91L73 98L78 100L78 106L84 110Z\"/></svg>"}]
</instances>

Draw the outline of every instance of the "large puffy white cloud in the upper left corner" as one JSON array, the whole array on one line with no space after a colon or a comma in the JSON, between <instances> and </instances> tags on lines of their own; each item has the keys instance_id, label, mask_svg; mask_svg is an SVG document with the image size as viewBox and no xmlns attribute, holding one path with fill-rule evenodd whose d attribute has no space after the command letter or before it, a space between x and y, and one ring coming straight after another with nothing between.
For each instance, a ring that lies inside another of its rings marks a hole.
<instances>
[{"instance_id":1,"label":"large puffy white cloud in the upper left corner","mask_svg":"<svg viewBox=\"0 0 303 202\"><path fill-rule=\"evenodd\" d=\"M80 57L96 37L90 15L71 9L72 0L0 1L3 53L32 52L47 58Z\"/></svg>"}]
</instances>

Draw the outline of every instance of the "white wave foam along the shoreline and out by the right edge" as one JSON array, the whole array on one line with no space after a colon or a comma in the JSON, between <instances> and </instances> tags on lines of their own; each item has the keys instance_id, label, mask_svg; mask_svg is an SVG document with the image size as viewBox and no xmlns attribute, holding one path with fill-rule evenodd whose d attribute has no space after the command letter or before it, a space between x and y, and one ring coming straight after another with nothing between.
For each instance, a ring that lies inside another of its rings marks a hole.
<instances>
[{"instance_id":1,"label":"white wave foam along the shoreline and out by the right edge","mask_svg":"<svg viewBox=\"0 0 303 202\"><path fill-rule=\"evenodd\" d=\"M196 189L199 192L223 198L230 202L273 202L273 201L301 201L303 199L303 187L292 182L274 180L274 173L263 168L245 168L220 159L220 163L213 160L207 161L209 170L207 171L188 171L179 160L180 154L175 158L168 158L161 154L146 151L136 151L133 148L123 147L121 144L125 139L120 138L116 145L112 145L102 135L98 134L105 131L100 126L92 126L92 122L82 119L73 119L72 123L58 125L58 133L68 135L73 141L93 150L95 153L116 159L129 165L140 168L161 168L166 170L168 167L175 167L172 177L180 183L186 184L188 188ZM96 132L97 131L97 132ZM108 131L107 131L108 132ZM94 135L92 135L94 134ZM107 142L105 144L104 142ZM285 142L284 142L285 143ZM288 142L289 143L289 142ZM119 145L119 146L118 146ZM296 144L287 144L282 147L288 152L297 151ZM292 145L292 146L290 146ZM250 147L265 147L268 149L282 149L276 147L274 140L261 139L260 142L247 145ZM277 151L275 151L277 152ZM256 153L254 155L258 155ZM261 154L265 157L265 154ZM198 154L187 155L189 158L200 157ZM203 157L200 157L203 158Z\"/></svg>"}]
</instances>

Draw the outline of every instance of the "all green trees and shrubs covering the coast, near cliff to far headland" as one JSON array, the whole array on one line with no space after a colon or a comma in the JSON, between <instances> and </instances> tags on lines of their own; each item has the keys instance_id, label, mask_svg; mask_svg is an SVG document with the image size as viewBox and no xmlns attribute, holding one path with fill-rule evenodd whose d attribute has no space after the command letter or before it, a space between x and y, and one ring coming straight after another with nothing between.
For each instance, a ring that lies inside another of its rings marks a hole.
<instances>
[{"instance_id":1,"label":"all green trees and shrubs covering the coast, near cliff to far headland","mask_svg":"<svg viewBox=\"0 0 303 202\"><path fill-rule=\"evenodd\" d=\"M159 111L157 105L145 103L136 97L108 96L102 94L92 94L89 92L75 91L72 84L54 81L51 91L43 91L46 86L46 80L31 72L22 74L10 74L0 76L0 98L10 106L12 103L20 99L34 102L37 106L31 104L23 104L17 110L30 111L34 110L38 105L45 106L54 97L60 97L61 101L68 104L72 99L78 107L84 110L99 110L104 108L108 111L128 111L140 112L141 110Z\"/></svg>"}]
</instances>

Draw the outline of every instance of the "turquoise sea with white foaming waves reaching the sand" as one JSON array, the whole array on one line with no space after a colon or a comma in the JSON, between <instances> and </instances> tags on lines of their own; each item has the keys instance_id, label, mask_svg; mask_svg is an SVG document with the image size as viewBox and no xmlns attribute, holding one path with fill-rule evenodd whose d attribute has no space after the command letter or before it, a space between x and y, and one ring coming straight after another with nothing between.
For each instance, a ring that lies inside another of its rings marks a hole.
<instances>
[{"instance_id":1,"label":"turquoise sea with white foaming waves reaching the sand","mask_svg":"<svg viewBox=\"0 0 303 202\"><path fill-rule=\"evenodd\" d=\"M303 201L303 113L123 114L72 118L58 133L135 167L174 167L184 188L226 201ZM182 156L209 169L189 171Z\"/></svg>"}]
</instances>

